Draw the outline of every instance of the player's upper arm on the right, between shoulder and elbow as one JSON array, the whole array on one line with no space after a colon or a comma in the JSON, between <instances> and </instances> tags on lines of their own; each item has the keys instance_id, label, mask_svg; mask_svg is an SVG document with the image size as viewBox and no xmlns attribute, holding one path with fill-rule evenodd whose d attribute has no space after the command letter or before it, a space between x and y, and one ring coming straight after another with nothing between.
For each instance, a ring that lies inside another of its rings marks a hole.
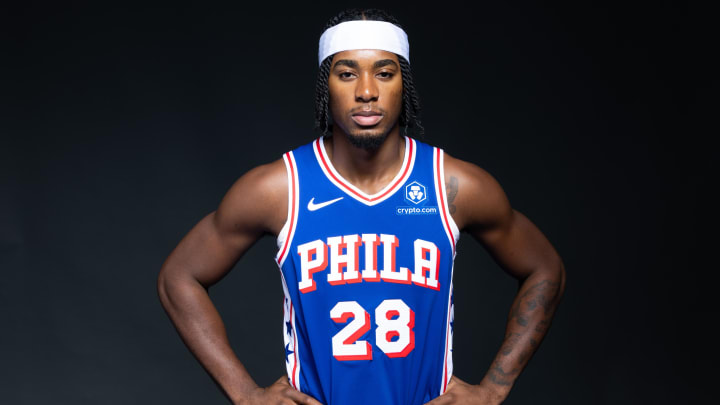
<instances>
[{"instance_id":1,"label":"player's upper arm on the right, between shoulder and elbow","mask_svg":"<svg viewBox=\"0 0 720 405\"><path fill-rule=\"evenodd\" d=\"M549 264L555 250L540 229L519 211L512 210L503 223L472 232L503 270L523 279Z\"/></svg>"}]
</instances>

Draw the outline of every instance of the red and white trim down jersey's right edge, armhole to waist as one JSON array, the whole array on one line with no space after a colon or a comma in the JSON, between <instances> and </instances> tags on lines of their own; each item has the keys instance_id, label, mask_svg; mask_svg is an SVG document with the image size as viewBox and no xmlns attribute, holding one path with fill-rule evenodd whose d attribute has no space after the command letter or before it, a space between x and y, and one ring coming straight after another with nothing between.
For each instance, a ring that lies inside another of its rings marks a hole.
<instances>
[{"instance_id":1,"label":"red and white trim down jersey's right edge, armhole to waist","mask_svg":"<svg viewBox=\"0 0 720 405\"><path fill-rule=\"evenodd\" d=\"M445 355L443 357L443 373L442 382L440 384L440 395L444 394L447 390L447 384L450 381L453 371L452 363L452 334L450 332L450 322L453 319L455 308L452 305L452 293L453 293L453 271L455 269L455 246L457 241L460 239L460 230L453 220L450 214L450 208L448 207L447 201L447 190L445 189L445 153L440 148L433 148L433 177L435 180L435 193L440 207L440 220L443 224L443 229L448 237L450 246L452 246L452 263L450 266L450 290L448 291L448 303L447 303L447 320L445 325Z\"/></svg>"}]
</instances>

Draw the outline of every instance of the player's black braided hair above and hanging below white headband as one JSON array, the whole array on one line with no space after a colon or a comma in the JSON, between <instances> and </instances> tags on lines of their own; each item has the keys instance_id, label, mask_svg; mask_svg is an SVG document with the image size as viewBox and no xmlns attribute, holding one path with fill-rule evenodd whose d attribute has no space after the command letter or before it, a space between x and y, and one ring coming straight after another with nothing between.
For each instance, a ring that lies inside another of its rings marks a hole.
<instances>
[{"instance_id":1,"label":"player's black braided hair above and hanging below white headband","mask_svg":"<svg viewBox=\"0 0 720 405\"><path fill-rule=\"evenodd\" d=\"M397 19L383 10L378 9L349 9L340 12L327 22L323 32L330 27L338 25L346 21L355 20L371 20L386 21L402 28ZM403 84L403 105L400 111L400 126L403 127L405 135L408 128L412 128L418 135L422 136L424 128L420 124L420 98L415 90L412 72L410 71L410 63L402 56L397 55L400 62L400 72L402 74ZM330 74L330 64L332 55L325 58L320 64L318 71L317 83L315 85L315 129L322 134L327 135L332 131L332 124L329 114L330 93L328 91L328 76Z\"/></svg>"}]
</instances>

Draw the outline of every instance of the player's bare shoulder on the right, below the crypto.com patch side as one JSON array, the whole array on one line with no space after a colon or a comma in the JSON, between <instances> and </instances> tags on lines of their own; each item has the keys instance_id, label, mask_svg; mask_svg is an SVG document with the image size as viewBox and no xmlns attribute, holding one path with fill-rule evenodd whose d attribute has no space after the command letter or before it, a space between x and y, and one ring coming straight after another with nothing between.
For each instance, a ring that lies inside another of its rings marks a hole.
<instances>
[{"instance_id":1,"label":"player's bare shoulder on the right, below the crypto.com patch side","mask_svg":"<svg viewBox=\"0 0 720 405\"><path fill-rule=\"evenodd\" d=\"M488 171L447 153L444 161L448 206L460 230L491 229L512 217L505 191Z\"/></svg>"}]
</instances>

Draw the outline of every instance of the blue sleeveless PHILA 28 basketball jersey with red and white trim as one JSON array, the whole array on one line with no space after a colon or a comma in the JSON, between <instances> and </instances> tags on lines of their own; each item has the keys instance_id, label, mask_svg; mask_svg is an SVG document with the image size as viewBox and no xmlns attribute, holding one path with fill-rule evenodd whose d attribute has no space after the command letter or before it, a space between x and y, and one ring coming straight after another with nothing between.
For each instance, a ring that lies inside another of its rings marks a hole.
<instances>
[{"instance_id":1,"label":"blue sleeveless PHILA 28 basketball jersey with red and white trim","mask_svg":"<svg viewBox=\"0 0 720 405\"><path fill-rule=\"evenodd\" d=\"M402 168L376 194L333 167L323 138L283 155L278 235L290 384L323 404L424 404L452 376L452 272L459 232L443 151L405 137Z\"/></svg>"}]
</instances>

